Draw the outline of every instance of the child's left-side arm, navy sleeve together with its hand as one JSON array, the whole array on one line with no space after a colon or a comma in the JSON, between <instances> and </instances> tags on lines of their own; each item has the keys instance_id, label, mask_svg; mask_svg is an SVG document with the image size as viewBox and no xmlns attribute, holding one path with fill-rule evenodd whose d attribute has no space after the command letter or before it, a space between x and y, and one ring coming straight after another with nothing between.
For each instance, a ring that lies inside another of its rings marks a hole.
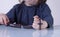
<instances>
[{"instance_id":1,"label":"child's left-side arm, navy sleeve together with its hand","mask_svg":"<svg viewBox=\"0 0 60 37\"><path fill-rule=\"evenodd\" d=\"M18 6L20 5L15 5L7 14L0 14L0 24L7 25L8 23L15 22L15 13Z\"/></svg>"}]
</instances>

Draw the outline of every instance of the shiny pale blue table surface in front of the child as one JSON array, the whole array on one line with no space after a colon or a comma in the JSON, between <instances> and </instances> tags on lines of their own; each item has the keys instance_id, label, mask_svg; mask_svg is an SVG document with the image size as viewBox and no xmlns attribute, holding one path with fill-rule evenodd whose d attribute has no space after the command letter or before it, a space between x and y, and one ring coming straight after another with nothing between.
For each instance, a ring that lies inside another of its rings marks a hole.
<instances>
[{"instance_id":1,"label":"shiny pale blue table surface in front of the child","mask_svg":"<svg viewBox=\"0 0 60 37\"><path fill-rule=\"evenodd\" d=\"M60 26L53 29L24 29L0 26L0 37L60 37Z\"/></svg>"}]
</instances>

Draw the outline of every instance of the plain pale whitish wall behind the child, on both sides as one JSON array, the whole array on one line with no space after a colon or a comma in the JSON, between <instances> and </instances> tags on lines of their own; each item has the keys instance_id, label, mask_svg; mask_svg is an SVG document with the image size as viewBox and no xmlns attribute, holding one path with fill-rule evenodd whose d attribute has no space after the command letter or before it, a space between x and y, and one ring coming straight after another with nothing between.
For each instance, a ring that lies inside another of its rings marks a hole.
<instances>
[{"instance_id":1,"label":"plain pale whitish wall behind the child, on both sides","mask_svg":"<svg viewBox=\"0 0 60 37\"><path fill-rule=\"evenodd\" d=\"M22 1L22 0L21 0ZM15 4L19 3L18 0L0 0L0 13L6 14ZM51 9L54 18L54 26L60 25L60 0L47 0L47 4Z\"/></svg>"}]
</instances>

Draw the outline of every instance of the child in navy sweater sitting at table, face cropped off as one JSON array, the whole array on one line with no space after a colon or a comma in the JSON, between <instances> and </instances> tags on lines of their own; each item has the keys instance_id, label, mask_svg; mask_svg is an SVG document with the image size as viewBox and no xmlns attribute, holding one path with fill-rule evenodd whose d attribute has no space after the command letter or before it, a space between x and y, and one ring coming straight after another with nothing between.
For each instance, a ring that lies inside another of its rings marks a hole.
<instances>
[{"instance_id":1,"label":"child in navy sweater sitting at table, face cropped off","mask_svg":"<svg viewBox=\"0 0 60 37\"><path fill-rule=\"evenodd\" d=\"M53 26L51 10L46 0L23 0L16 4L7 14L0 14L0 24L8 23L29 25L34 29L45 29Z\"/></svg>"}]
</instances>

